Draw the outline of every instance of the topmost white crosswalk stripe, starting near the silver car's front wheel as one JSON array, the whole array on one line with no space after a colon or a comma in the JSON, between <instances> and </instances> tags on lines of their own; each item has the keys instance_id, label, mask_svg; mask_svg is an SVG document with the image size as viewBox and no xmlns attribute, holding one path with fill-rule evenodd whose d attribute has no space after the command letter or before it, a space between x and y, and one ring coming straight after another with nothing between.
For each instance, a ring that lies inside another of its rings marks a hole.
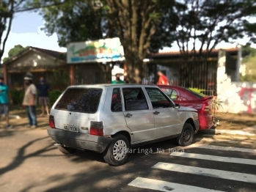
<instances>
[{"instance_id":1,"label":"topmost white crosswalk stripe, starting near the silver car's front wheel","mask_svg":"<svg viewBox=\"0 0 256 192\"><path fill-rule=\"evenodd\" d=\"M191 144L186 148L202 148L202 149L216 149L222 151L235 151L235 152L252 152L256 153L256 149L246 149L246 148L239 148L239 147L222 147L216 145L205 145L205 144ZM184 149L186 149L184 148Z\"/></svg>"}]
</instances>

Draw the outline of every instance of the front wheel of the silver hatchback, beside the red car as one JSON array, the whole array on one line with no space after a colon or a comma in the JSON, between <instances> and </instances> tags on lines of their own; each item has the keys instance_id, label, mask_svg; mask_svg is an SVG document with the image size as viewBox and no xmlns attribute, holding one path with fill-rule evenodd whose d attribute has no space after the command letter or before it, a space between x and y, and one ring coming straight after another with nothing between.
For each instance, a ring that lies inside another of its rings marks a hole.
<instances>
[{"instance_id":1,"label":"front wheel of the silver hatchback, beside the red car","mask_svg":"<svg viewBox=\"0 0 256 192\"><path fill-rule=\"evenodd\" d=\"M180 146L188 146L194 139L194 129L190 123L185 123L180 136L178 136L177 141Z\"/></svg>"}]
</instances>

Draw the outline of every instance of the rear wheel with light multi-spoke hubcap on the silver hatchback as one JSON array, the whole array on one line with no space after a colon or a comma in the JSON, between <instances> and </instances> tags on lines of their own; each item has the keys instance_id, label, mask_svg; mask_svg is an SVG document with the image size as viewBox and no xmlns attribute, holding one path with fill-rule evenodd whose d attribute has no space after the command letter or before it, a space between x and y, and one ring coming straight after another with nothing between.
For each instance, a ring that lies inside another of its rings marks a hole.
<instances>
[{"instance_id":1,"label":"rear wheel with light multi-spoke hubcap on the silver hatchback","mask_svg":"<svg viewBox=\"0 0 256 192\"><path fill-rule=\"evenodd\" d=\"M128 149L130 147L128 139L123 135L114 136L109 147L103 152L103 158L111 166L121 166L128 159ZM119 149L120 151L117 151Z\"/></svg>"}]
</instances>

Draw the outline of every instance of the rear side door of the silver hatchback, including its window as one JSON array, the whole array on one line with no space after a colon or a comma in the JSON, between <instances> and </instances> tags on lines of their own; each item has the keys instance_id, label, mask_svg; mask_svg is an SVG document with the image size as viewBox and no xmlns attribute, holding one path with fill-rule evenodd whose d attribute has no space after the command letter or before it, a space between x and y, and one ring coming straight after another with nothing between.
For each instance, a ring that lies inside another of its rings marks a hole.
<instances>
[{"instance_id":1,"label":"rear side door of the silver hatchback, including its window","mask_svg":"<svg viewBox=\"0 0 256 192\"><path fill-rule=\"evenodd\" d=\"M122 88L125 121L134 135L134 143L154 139L154 117L141 87Z\"/></svg>"}]
</instances>

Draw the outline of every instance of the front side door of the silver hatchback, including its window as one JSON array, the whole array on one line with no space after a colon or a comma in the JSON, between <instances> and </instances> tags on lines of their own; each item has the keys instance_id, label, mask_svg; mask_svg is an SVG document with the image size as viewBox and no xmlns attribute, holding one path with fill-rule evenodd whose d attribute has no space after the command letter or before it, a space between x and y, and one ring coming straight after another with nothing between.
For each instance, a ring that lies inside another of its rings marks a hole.
<instances>
[{"instance_id":1,"label":"front side door of the silver hatchback, including its window","mask_svg":"<svg viewBox=\"0 0 256 192\"><path fill-rule=\"evenodd\" d=\"M180 128L180 117L174 103L158 88L146 87L145 89L153 107L155 138L177 134Z\"/></svg>"}]
</instances>

